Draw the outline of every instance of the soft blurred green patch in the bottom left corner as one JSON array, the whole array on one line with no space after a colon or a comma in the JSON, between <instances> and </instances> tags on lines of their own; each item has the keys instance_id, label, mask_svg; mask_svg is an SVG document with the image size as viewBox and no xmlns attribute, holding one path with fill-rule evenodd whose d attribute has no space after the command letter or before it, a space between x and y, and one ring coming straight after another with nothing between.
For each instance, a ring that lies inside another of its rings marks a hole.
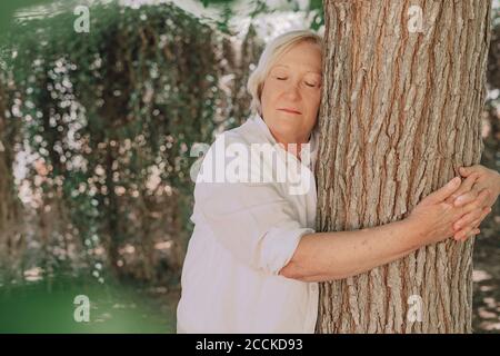
<instances>
[{"instance_id":1,"label":"soft blurred green patch in the bottom left corner","mask_svg":"<svg viewBox=\"0 0 500 356\"><path fill-rule=\"evenodd\" d=\"M90 299L88 323L74 320L78 295ZM58 277L1 287L0 333L174 333L174 307L137 286Z\"/></svg>"}]
</instances>

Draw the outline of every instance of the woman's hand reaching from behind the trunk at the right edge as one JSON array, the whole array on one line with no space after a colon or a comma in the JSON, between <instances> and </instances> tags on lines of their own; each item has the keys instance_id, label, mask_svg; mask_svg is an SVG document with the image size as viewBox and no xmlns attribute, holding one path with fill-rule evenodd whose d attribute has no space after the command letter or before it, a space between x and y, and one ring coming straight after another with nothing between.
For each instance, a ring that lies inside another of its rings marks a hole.
<instances>
[{"instance_id":1,"label":"woman's hand reaching from behind the trunk at the right edge","mask_svg":"<svg viewBox=\"0 0 500 356\"><path fill-rule=\"evenodd\" d=\"M500 174L481 165L460 167L459 172L462 177L474 175L477 178L474 179L474 184L470 191L459 195L454 199L456 206L459 207L472 201L483 189L488 189L491 192L489 198L483 202L483 214L479 218L469 212L454 222L454 239L464 240L471 231L479 227L486 216L491 212L491 207L500 195Z\"/></svg>"}]
</instances>

